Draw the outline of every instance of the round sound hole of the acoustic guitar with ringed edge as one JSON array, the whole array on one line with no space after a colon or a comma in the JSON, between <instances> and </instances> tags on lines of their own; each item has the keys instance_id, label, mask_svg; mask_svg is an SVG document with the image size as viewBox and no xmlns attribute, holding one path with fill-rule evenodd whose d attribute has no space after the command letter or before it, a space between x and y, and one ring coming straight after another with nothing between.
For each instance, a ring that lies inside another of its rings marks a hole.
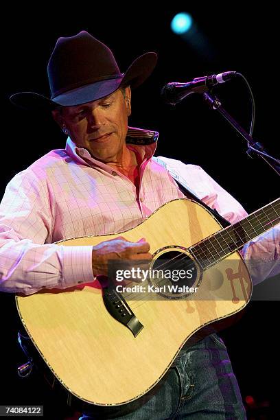
<instances>
[{"instance_id":1,"label":"round sound hole of the acoustic guitar with ringed edge","mask_svg":"<svg viewBox=\"0 0 280 420\"><path fill-rule=\"evenodd\" d=\"M168 250L154 256L150 283L165 296L177 298L194 292L198 286L198 269L182 250Z\"/></svg>"}]
</instances>

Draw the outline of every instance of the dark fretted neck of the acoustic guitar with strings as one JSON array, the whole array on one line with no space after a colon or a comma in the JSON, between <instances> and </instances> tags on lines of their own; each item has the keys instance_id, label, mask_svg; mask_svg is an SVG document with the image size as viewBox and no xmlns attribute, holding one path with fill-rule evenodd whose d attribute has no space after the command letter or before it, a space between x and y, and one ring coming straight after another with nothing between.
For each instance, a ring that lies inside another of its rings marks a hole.
<instances>
[{"instance_id":1,"label":"dark fretted neck of the acoustic guitar with strings","mask_svg":"<svg viewBox=\"0 0 280 420\"><path fill-rule=\"evenodd\" d=\"M280 222L280 198L189 248L203 269L242 248Z\"/></svg>"}]
</instances>

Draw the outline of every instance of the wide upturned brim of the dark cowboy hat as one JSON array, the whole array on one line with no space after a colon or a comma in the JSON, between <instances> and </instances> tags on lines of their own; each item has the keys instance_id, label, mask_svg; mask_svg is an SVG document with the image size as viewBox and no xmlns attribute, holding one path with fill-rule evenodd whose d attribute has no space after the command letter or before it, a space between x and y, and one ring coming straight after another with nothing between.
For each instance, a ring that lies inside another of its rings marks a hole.
<instances>
[{"instance_id":1,"label":"wide upturned brim of the dark cowboy hat","mask_svg":"<svg viewBox=\"0 0 280 420\"><path fill-rule=\"evenodd\" d=\"M57 106L82 105L110 95L120 87L129 85L132 89L137 88L150 76L156 66L156 61L156 53L148 52L132 62L128 71L119 78L86 84L52 99L34 92L14 93L10 97L10 101L12 104L28 110L53 110Z\"/></svg>"}]
</instances>

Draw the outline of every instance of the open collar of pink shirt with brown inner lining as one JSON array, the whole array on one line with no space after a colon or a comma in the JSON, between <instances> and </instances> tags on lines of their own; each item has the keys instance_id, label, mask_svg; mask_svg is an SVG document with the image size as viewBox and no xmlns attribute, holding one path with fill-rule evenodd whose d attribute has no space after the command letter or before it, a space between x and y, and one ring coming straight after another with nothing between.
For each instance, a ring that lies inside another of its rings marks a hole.
<instances>
[{"instance_id":1,"label":"open collar of pink shirt with brown inner lining","mask_svg":"<svg viewBox=\"0 0 280 420\"><path fill-rule=\"evenodd\" d=\"M141 158L144 161L151 159L155 150L157 140L159 138L159 132L151 130L143 130L143 128L128 127L128 133L126 135L126 143L130 145L130 148L136 149L141 154ZM89 154L88 150L84 148L78 148L70 137L67 139L66 152L75 161L92 166L96 165L99 167L108 167L105 163L93 159Z\"/></svg>"}]
</instances>

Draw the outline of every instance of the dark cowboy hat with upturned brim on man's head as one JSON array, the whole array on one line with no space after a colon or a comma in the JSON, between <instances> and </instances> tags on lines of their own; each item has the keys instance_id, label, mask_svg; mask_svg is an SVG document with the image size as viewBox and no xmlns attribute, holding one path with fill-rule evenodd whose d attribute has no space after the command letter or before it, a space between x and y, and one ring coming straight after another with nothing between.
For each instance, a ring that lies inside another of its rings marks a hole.
<instances>
[{"instance_id":1,"label":"dark cowboy hat with upturned brim on man's head","mask_svg":"<svg viewBox=\"0 0 280 420\"><path fill-rule=\"evenodd\" d=\"M13 104L30 110L75 106L110 95L120 87L135 89L152 73L157 56L148 52L121 73L112 51L86 31L58 38L47 65L51 97L14 93Z\"/></svg>"}]
</instances>

